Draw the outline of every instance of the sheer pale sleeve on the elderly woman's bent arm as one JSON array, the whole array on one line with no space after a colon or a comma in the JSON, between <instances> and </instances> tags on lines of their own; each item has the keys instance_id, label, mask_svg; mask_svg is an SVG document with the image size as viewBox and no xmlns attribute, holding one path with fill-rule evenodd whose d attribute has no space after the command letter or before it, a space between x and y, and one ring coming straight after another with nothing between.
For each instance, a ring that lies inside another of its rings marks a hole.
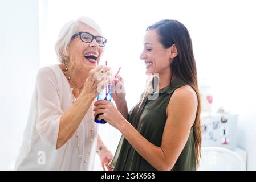
<instances>
[{"instance_id":1,"label":"sheer pale sleeve on the elderly woman's bent arm","mask_svg":"<svg viewBox=\"0 0 256 182\"><path fill-rule=\"evenodd\" d=\"M56 148L60 117L64 113L60 106L56 76L50 68L39 70L36 89L38 92L36 131L44 143Z\"/></svg>"}]
</instances>

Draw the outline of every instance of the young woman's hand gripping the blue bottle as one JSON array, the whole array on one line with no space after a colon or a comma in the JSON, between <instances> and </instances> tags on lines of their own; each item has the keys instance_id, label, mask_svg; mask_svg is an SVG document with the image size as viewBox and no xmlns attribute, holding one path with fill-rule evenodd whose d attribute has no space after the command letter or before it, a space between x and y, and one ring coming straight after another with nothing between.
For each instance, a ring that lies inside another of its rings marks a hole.
<instances>
[{"instance_id":1,"label":"young woman's hand gripping the blue bottle","mask_svg":"<svg viewBox=\"0 0 256 182\"><path fill-rule=\"evenodd\" d=\"M122 123L126 121L112 102L99 100L94 105L94 117L100 114L98 120L104 119L116 129L119 129Z\"/></svg>"}]
</instances>

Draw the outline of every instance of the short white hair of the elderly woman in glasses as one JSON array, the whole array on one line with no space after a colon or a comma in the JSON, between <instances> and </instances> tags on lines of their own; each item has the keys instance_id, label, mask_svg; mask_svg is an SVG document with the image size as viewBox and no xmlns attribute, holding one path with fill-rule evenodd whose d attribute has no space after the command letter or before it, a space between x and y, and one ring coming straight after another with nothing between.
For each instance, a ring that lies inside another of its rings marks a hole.
<instances>
[{"instance_id":1,"label":"short white hair of the elderly woman in glasses","mask_svg":"<svg viewBox=\"0 0 256 182\"><path fill-rule=\"evenodd\" d=\"M78 31L80 23L86 24L87 26L94 28L94 30L96 30L100 34L100 36L103 36L99 25L95 23L94 20L88 17L80 17L77 20L71 20L70 22L64 24L59 32L58 39L55 43L57 58L62 64L69 59L67 52L68 45L70 44L72 36Z\"/></svg>"}]
</instances>

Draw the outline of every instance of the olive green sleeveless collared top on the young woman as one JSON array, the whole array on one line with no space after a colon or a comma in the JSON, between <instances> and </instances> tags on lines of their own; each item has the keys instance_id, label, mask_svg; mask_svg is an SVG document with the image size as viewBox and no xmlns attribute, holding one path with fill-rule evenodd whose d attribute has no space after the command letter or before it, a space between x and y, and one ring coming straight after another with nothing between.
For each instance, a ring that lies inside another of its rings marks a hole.
<instances>
[{"instance_id":1,"label":"olive green sleeveless collared top on the young woman","mask_svg":"<svg viewBox=\"0 0 256 182\"><path fill-rule=\"evenodd\" d=\"M160 147L162 134L167 119L166 107L175 89L187 85L180 78L176 78L170 85L155 92L158 97L155 100L147 100L142 107L139 119L135 119L140 102L133 107L129 113L128 121L139 131L149 142ZM156 95L154 95L156 96ZM138 122L136 122L137 120ZM117 147L115 156L109 167L114 170L156 170L149 164L131 144L122 136ZM190 130L188 141L185 144L173 170L196 170L196 151L194 146L193 127Z\"/></svg>"}]
</instances>

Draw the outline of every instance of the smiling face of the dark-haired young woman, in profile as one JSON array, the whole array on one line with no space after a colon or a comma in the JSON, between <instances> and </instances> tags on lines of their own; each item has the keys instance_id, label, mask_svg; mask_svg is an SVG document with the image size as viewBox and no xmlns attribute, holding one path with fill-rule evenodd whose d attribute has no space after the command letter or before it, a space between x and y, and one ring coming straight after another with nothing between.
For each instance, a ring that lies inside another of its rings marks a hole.
<instances>
[{"instance_id":1,"label":"smiling face of the dark-haired young woman, in profile","mask_svg":"<svg viewBox=\"0 0 256 182\"><path fill-rule=\"evenodd\" d=\"M144 49L140 59L144 60L146 74L170 73L169 48L165 49L159 42L159 35L155 29L151 29L145 34Z\"/></svg>"}]
</instances>

